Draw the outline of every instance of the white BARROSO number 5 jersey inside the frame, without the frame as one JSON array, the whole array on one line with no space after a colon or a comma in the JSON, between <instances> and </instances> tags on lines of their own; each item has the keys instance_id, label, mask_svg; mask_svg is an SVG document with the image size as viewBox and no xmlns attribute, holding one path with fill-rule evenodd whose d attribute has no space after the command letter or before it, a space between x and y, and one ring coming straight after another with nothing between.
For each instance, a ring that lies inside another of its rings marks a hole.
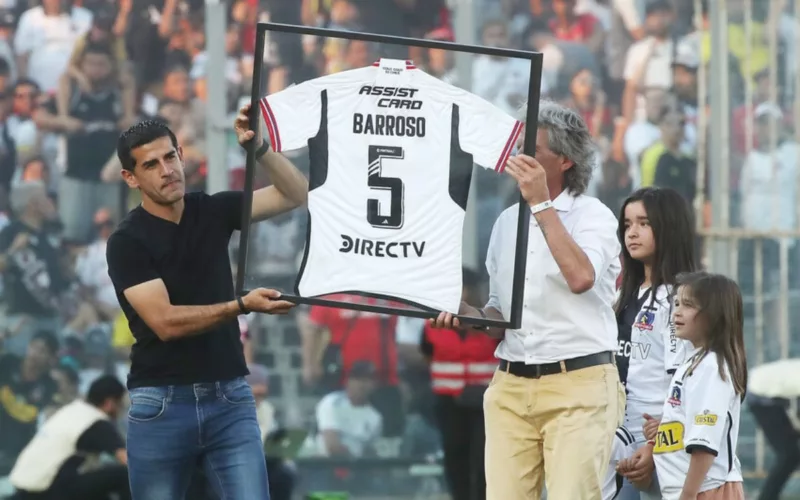
<instances>
[{"instance_id":1,"label":"white BARROSO number 5 jersey inside the frame, without the frame","mask_svg":"<svg viewBox=\"0 0 800 500\"><path fill-rule=\"evenodd\" d=\"M473 162L502 172L522 124L393 59L287 88L261 111L275 151L309 147L297 293L457 312Z\"/></svg>"}]
</instances>

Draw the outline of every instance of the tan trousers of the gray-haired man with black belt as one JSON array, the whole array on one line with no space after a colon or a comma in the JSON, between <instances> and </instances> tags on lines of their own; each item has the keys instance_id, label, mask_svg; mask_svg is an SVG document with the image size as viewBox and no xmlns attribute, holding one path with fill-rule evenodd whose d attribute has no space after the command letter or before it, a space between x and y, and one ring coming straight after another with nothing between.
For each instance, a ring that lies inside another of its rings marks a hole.
<instances>
[{"instance_id":1,"label":"tan trousers of the gray-haired man with black belt","mask_svg":"<svg viewBox=\"0 0 800 500\"><path fill-rule=\"evenodd\" d=\"M602 500L625 392L612 364L539 379L496 371L483 400L486 500ZM544 480L544 481L543 481Z\"/></svg>"}]
</instances>

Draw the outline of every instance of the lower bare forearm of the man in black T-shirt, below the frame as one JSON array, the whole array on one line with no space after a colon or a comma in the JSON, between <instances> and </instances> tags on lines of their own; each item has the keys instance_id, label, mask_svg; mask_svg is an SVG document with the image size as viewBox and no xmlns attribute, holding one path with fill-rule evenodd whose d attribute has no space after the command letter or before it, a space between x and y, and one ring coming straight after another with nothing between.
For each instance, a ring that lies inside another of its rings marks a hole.
<instances>
[{"instance_id":1,"label":"lower bare forearm of the man in black T-shirt, below the frame","mask_svg":"<svg viewBox=\"0 0 800 500\"><path fill-rule=\"evenodd\" d=\"M208 306L170 306L154 331L161 340L178 340L205 333L239 314L235 300Z\"/></svg>"}]
</instances>

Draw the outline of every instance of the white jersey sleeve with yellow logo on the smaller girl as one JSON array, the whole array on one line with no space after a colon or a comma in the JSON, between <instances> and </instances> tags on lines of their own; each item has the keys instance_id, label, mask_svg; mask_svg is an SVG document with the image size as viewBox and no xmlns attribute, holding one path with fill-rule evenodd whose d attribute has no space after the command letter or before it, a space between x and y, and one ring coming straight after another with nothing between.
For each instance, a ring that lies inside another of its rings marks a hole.
<instances>
[{"instance_id":1,"label":"white jersey sleeve with yellow logo on the smaller girl","mask_svg":"<svg viewBox=\"0 0 800 500\"><path fill-rule=\"evenodd\" d=\"M684 448L687 453L697 450L717 456L726 433L730 432L728 409L737 396L733 384L719 376L716 360L695 372L694 377L697 379L692 381L686 398Z\"/></svg>"}]
</instances>

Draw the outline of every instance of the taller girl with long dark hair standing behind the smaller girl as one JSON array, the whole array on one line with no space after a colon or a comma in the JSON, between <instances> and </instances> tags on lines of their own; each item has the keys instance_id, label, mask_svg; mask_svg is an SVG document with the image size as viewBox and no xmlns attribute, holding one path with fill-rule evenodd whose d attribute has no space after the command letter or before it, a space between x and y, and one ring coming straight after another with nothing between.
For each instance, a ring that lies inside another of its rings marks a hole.
<instances>
[{"instance_id":1,"label":"taller girl with long dark hair standing behind the smaller girl","mask_svg":"<svg viewBox=\"0 0 800 500\"><path fill-rule=\"evenodd\" d=\"M640 189L622 205L617 366L627 394L625 427L635 448L644 446L645 420L661 413L672 373L683 360L682 342L670 322L671 293L677 276L696 268L693 227L689 204L671 189ZM652 461L642 462L630 473L650 476L652 468ZM640 494L626 481L618 498L660 496L655 484Z\"/></svg>"}]
</instances>

